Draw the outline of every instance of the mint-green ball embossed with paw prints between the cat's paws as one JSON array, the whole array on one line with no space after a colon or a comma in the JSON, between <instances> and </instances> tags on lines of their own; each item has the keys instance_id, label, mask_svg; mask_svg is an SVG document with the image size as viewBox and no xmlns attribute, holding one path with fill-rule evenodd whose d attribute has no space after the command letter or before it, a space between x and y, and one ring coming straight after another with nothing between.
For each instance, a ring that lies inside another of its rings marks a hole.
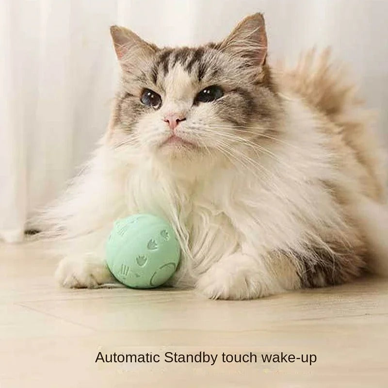
<instances>
[{"instance_id":1,"label":"mint-green ball embossed with paw prints between the cat's paws","mask_svg":"<svg viewBox=\"0 0 388 388\"><path fill-rule=\"evenodd\" d=\"M174 229L151 214L135 214L116 221L106 244L109 270L132 288L162 285L174 274L179 257Z\"/></svg>"}]
</instances>

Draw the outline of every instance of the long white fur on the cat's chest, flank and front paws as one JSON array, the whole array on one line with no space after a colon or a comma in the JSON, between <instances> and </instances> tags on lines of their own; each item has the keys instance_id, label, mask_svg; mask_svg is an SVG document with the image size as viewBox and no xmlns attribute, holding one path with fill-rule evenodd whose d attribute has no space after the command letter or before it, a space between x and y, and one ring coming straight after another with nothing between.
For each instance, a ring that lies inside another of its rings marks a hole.
<instances>
[{"instance_id":1,"label":"long white fur on the cat's chest, flank and front paws","mask_svg":"<svg viewBox=\"0 0 388 388\"><path fill-rule=\"evenodd\" d=\"M318 226L346 236L339 206L316 182L348 178L332 168L325 147L330 139L318 129L314 114L294 96L284 98L284 104L282 140L271 154L260 155L260 166L218 155L211 163L198 158L197 164L182 161L171 169L149 154L129 153L126 159L120 154L125 150L102 142L85 175L46 215L53 230L67 230L68 238L83 236L67 244L57 271L60 283L96 287L112 282L103 245L113 221L151 212L172 223L182 246L171 284L233 299L300 287L295 271L276 269L268 252L301 251L307 237L324 244ZM365 210L359 218L368 230L374 228Z\"/></svg>"}]
</instances>

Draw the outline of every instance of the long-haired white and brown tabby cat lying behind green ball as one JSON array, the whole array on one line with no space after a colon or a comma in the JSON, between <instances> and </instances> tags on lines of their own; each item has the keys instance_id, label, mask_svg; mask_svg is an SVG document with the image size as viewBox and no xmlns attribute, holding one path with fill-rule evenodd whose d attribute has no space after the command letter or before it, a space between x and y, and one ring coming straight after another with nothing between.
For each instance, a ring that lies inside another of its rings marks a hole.
<instances>
[{"instance_id":1,"label":"long-haired white and brown tabby cat lying behind green ball","mask_svg":"<svg viewBox=\"0 0 388 388\"><path fill-rule=\"evenodd\" d=\"M39 218L65 287L113 284L113 221L160 215L168 284L252 299L386 271L386 172L371 117L324 51L271 67L262 14L219 43L158 48L111 27L121 82L82 174Z\"/></svg>"}]
</instances>

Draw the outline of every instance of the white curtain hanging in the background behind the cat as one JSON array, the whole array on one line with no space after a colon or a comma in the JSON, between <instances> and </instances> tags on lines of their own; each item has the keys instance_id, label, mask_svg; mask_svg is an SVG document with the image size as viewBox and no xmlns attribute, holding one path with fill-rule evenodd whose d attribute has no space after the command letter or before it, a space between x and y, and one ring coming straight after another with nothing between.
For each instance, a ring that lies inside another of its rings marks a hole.
<instances>
[{"instance_id":1,"label":"white curtain hanging in the background behind the cat","mask_svg":"<svg viewBox=\"0 0 388 388\"><path fill-rule=\"evenodd\" d=\"M109 26L160 46L224 37L264 12L270 58L333 46L388 124L388 1L0 0L0 237L64 189L104 132L117 65Z\"/></svg>"}]
</instances>

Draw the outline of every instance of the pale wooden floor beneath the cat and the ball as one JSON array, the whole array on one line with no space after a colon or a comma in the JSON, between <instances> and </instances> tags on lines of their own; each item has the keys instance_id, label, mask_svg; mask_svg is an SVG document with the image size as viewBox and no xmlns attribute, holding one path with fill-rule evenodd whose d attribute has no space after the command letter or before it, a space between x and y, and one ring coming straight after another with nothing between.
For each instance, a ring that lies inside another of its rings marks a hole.
<instances>
[{"instance_id":1,"label":"pale wooden floor beneath the cat and the ball","mask_svg":"<svg viewBox=\"0 0 388 388\"><path fill-rule=\"evenodd\" d=\"M37 246L0 245L1 388L388 387L385 280L210 301L168 289L65 290L55 265ZM218 354L214 365L164 359L201 351ZM161 361L96 363L99 352ZM222 361L250 352L257 362ZM316 361L263 363L280 352Z\"/></svg>"}]
</instances>

